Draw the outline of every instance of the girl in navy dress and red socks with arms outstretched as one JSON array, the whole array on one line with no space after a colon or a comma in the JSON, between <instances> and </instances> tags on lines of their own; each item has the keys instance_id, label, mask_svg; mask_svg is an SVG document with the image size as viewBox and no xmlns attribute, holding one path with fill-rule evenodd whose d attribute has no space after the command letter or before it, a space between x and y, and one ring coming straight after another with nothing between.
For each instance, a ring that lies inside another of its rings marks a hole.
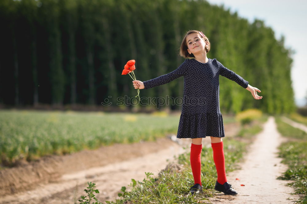
<instances>
[{"instance_id":1,"label":"girl in navy dress and red socks with arms outstretched","mask_svg":"<svg viewBox=\"0 0 307 204\"><path fill-rule=\"evenodd\" d=\"M251 92L255 99L262 99L257 95L258 88L252 87L235 72L224 67L216 59L207 57L210 50L209 39L200 31L188 31L180 47L180 55L186 60L173 72L147 81L134 80L134 88L149 89L169 83L184 76L184 100L178 126L177 138L191 138L191 168L194 185L190 188L192 194L202 191L200 180L200 153L202 139L211 139L213 160L216 165L217 181L215 190L227 195L237 192L227 182L225 173L225 158L222 137L224 134L223 117L220 112L219 75L235 81Z\"/></svg>"}]
</instances>

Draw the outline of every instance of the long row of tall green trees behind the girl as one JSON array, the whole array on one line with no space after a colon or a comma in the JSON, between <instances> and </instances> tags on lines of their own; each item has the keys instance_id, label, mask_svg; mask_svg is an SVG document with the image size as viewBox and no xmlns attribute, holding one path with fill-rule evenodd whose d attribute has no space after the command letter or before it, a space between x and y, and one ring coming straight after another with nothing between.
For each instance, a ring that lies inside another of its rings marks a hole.
<instances>
[{"instance_id":1,"label":"long row of tall green trees behind the girl","mask_svg":"<svg viewBox=\"0 0 307 204\"><path fill-rule=\"evenodd\" d=\"M137 80L169 73L184 61L178 55L183 35L196 29L210 40L209 58L262 91L263 99L255 100L220 76L222 110L295 109L292 50L284 38L223 6L203 0L2 0L0 20L0 104L101 105L112 96L116 106L117 97L137 94L132 79L121 75L128 60L136 60ZM183 96L183 77L140 91L140 97L166 95Z\"/></svg>"}]
</instances>

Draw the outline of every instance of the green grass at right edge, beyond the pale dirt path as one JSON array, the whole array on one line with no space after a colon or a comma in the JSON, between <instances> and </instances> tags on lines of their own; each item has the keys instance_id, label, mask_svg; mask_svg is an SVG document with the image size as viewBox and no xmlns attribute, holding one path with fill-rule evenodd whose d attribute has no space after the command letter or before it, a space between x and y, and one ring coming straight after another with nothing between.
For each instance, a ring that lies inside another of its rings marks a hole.
<instances>
[{"instance_id":1,"label":"green grass at right edge, beyond the pale dirt path","mask_svg":"<svg viewBox=\"0 0 307 204\"><path fill-rule=\"evenodd\" d=\"M295 194L303 195L297 203L307 203L307 133L283 122L279 117L276 122L278 131L290 139L279 147L282 163L288 165L287 171L279 179L292 180L288 185L294 187Z\"/></svg>"}]
</instances>

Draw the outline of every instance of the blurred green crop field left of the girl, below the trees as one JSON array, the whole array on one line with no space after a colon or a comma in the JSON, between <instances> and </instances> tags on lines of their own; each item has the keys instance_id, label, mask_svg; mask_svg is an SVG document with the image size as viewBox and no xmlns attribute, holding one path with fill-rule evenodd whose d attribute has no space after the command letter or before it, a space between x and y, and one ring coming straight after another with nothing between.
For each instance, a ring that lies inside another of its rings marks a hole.
<instances>
[{"instance_id":1,"label":"blurred green crop field left of the girl, below the trees","mask_svg":"<svg viewBox=\"0 0 307 204\"><path fill-rule=\"evenodd\" d=\"M0 110L2 165L177 133L179 116Z\"/></svg>"}]
</instances>

